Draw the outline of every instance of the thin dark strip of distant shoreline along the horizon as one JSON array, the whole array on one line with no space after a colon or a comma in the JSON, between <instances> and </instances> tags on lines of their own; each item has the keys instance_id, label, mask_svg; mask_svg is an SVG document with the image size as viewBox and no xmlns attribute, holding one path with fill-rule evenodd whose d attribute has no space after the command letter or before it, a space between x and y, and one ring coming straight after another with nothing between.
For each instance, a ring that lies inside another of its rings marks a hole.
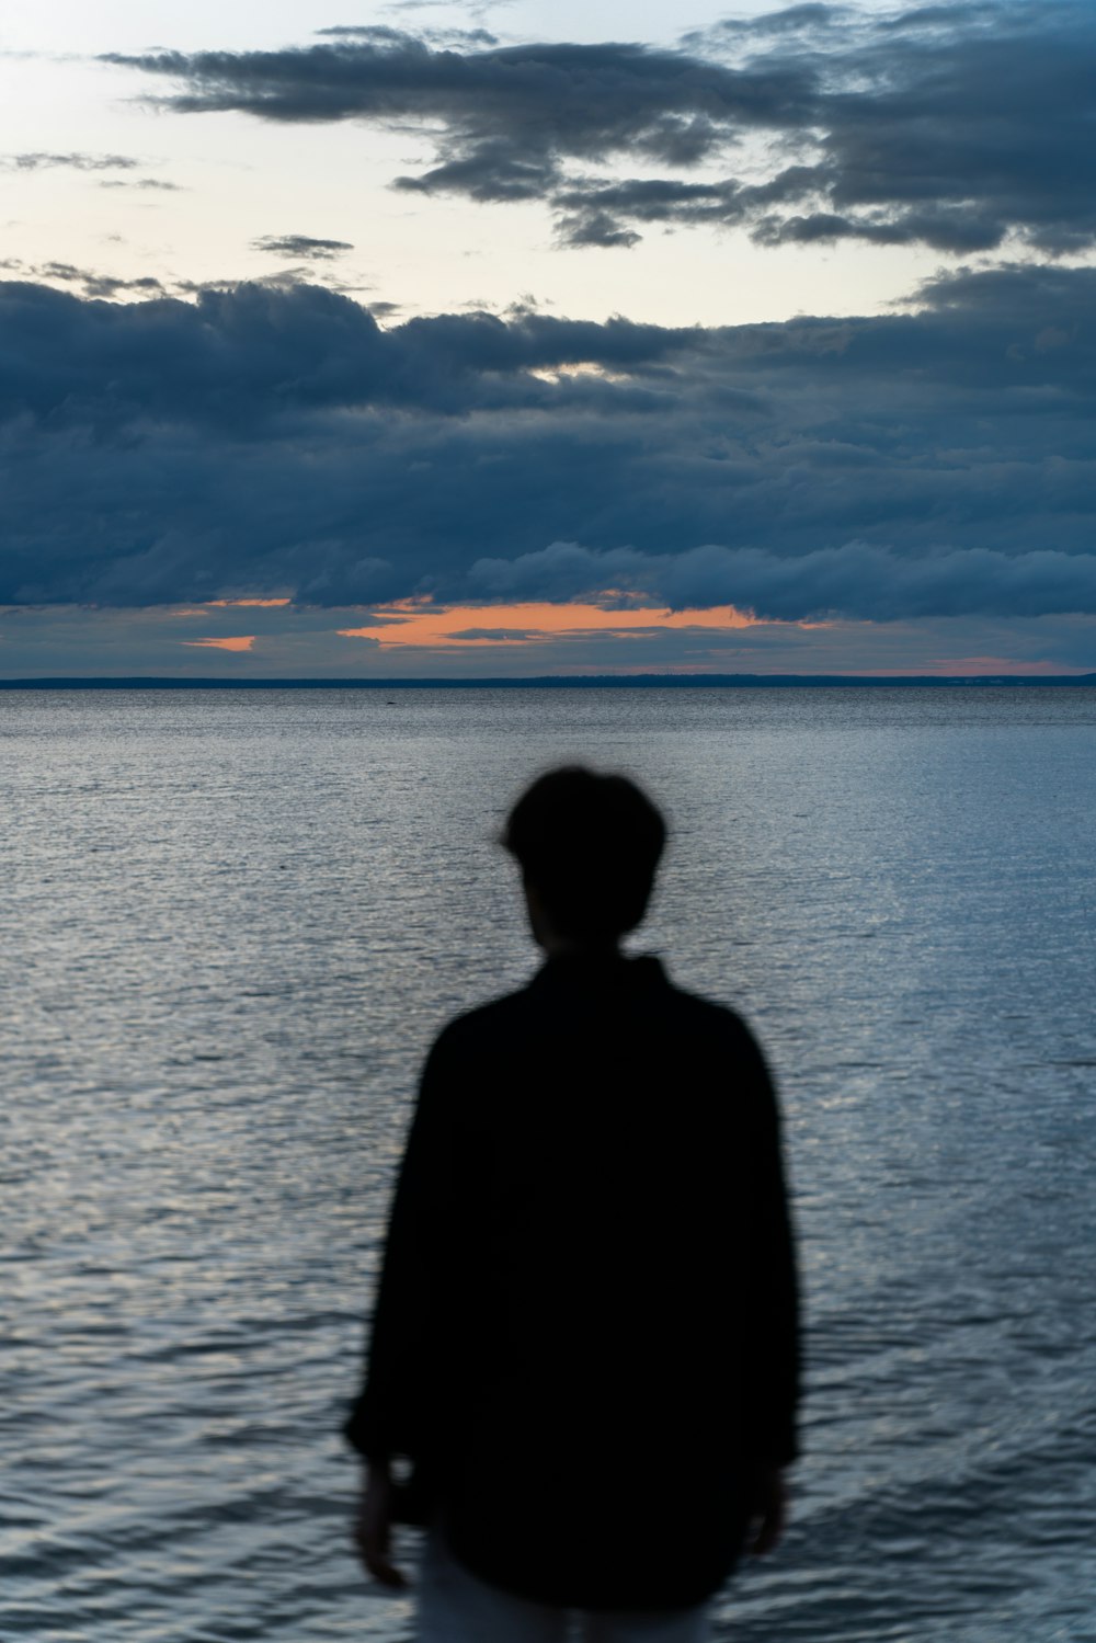
<instances>
[{"instance_id":1,"label":"thin dark strip of distant shoreline along the horizon","mask_svg":"<svg viewBox=\"0 0 1096 1643\"><path fill-rule=\"evenodd\" d=\"M524 679L0 679L0 690L864 690L1096 685L1096 674L554 674Z\"/></svg>"}]
</instances>

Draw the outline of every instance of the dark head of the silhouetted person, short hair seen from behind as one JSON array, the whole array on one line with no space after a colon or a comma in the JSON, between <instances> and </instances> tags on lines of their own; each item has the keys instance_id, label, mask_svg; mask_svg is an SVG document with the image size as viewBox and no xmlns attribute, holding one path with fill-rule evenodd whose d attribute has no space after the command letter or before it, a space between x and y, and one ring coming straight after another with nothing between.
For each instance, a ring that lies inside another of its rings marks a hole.
<instances>
[{"instance_id":1,"label":"dark head of the silhouetted person, short hair seen from behind","mask_svg":"<svg viewBox=\"0 0 1096 1643\"><path fill-rule=\"evenodd\" d=\"M521 795L503 845L562 937L615 940L647 910L665 822L626 775L565 766Z\"/></svg>"}]
</instances>

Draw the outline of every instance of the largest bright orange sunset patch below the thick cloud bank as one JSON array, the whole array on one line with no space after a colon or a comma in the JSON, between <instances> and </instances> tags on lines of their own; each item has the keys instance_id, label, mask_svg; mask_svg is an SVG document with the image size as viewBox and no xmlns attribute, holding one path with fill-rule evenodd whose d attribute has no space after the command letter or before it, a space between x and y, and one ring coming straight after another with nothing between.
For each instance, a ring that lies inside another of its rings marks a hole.
<instances>
[{"instance_id":1,"label":"largest bright orange sunset patch below the thick cloud bank","mask_svg":"<svg viewBox=\"0 0 1096 1643\"><path fill-rule=\"evenodd\" d=\"M376 639L383 646L465 649L477 644L536 644L549 634L638 634L661 628L754 628L758 619L733 605L705 611L656 606L603 610L600 605L431 605L398 600L378 606L365 628L340 628L343 639Z\"/></svg>"}]
</instances>

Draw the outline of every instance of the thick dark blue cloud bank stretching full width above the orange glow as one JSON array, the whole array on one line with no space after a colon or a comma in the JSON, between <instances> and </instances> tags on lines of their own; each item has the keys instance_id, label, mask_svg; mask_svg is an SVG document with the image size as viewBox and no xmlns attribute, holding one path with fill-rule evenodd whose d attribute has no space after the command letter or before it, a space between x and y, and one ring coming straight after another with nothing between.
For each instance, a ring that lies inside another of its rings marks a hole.
<instances>
[{"instance_id":1,"label":"thick dark blue cloud bank stretching full width above the orange glow","mask_svg":"<svg viewBox=\"0 0 1096 1643\"><path fill-rule=\"evenodd\" d=\"M1065 266L710 330L13 281L0 601L1096 611L1093 337Z\"/></svg>"}]
</instances>

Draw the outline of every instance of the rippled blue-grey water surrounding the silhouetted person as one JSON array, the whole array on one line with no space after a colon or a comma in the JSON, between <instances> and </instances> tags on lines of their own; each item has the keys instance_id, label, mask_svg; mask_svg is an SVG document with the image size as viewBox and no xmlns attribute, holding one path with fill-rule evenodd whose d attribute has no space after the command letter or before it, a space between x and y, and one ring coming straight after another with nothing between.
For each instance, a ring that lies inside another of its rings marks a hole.
<instances>
[{"instance_id":1,"label":"rippled blue-grey water surrounding the silhouetted person","mask_svg":"<svg viewBox=\"0 0 1096 1643\"><path fill-rule=\"evenodd\" d=\"M2 693L3 1638L408 1636L337 1426L573 757L669 810L636 945L787 1114L805 1459L720 1636L1096 1638L1096 692L969 687Z\"/></svg>"}]
</instances>

